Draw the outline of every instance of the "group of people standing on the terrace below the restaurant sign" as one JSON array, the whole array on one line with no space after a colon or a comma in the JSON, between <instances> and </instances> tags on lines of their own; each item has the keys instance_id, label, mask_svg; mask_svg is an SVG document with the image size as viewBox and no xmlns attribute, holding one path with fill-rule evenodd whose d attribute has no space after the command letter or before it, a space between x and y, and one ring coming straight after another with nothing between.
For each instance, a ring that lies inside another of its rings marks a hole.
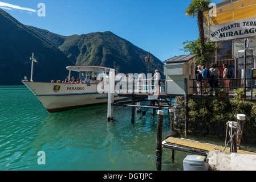
<instances>
[{"instance_id":1,"label":"group of people standing on the terrace below the restaurant sign","mask_svg":"<svg viewBox=\"0 0 256 182\"><path fill-rule=\"evenodd\" d=\"M224 68L224 71L223 71L223 80L221 81L223 83L224 88L226 89L226 96L228 96L230 80L227 76L230 70L226 63L224 63L222 67ZM218 82L220 81L219 79L220 79L220 72L217 68L216 63L212 63L210 65L209 70L206 69L205 65L203 66L198 65L198 67L196 67L196 77L195 77L196 84L197 84L197 93L201 94L201 92L204 92L204 90L201 90L201 86L202 86L202 89L207 89L208 86L210 85L210 97L212 97L213 88L218 87ZM217 93L215 94L217 96Z\"/></svg>"}]
</instances>

